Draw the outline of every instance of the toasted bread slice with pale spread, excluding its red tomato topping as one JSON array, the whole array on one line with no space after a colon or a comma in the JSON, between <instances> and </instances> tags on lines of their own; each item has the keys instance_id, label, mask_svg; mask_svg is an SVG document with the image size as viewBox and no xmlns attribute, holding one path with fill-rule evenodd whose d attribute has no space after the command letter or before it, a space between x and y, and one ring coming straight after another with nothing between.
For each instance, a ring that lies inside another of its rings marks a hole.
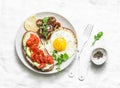
<instances>
[{"instance_id":1,"label":"toasted bread slice with pale spread, excluding its red tomato topping","mask_svg":"<svg viewBox=\"0 0 120 88\"><path fill-rule=\"evenodd\" d=\"M39 36L34 33L34 32L26 32L24 35L23 35L23 38L22 38L22 51L23 51L23 56L25 58L25 60L35 69L39 70L39 71L42 71L42 72L48 72L48 71L51 71L53 68L54 68L54 64L46 64L46 67L42 68L42 69L38 69L37 66L40 65L38 64L37 62L33 62L31 59L30 59L30 56L31 56L31 51L28 49L29 47L26 46L26 41L29 39L30 37L30 34L34 34L36 35L38 38ZM48 55L48 52L46 51L46 49L44 48L44 46L42 45L42 43L39 44L40 45L40 49L43 50L44 54L45 55Z\"/></svg>"}]
</instances>

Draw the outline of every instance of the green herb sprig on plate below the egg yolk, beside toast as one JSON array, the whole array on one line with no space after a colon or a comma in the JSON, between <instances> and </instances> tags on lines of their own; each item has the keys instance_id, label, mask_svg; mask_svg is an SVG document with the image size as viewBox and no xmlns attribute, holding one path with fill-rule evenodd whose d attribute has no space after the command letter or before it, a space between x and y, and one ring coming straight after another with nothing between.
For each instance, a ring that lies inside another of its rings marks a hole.
<instances>
[{"instance_id":1,"label":"green herb sprig on plate below the egg yolk, beside toast","mask_svg":"<svg viewBox=\"0 0 120 88\"><path fill-rule=\"evenodd\" d=\"M68 56L67 53L57 55L57 51L56 51L56 50L54 50L54 51L52 52L52 56L53 56L54 60L57 62L57 63L56 63L56 65L57 65L56 70L57 70L57 71L60 71L60 70L61 70L61 69L60 69L60 65L61 65L63 62L65 62L66 60L68 60L68 58L69 58L69 56Z\"/></svg>"}]
</instances>

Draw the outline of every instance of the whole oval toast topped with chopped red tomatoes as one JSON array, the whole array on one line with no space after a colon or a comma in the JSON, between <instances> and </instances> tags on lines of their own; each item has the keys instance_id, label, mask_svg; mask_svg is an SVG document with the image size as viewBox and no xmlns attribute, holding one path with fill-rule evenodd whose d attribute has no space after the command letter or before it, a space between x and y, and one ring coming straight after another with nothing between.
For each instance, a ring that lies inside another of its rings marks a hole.
<instances>
[{"instance_id":1,"label":"whole oval toast topped with chopped red tomatoes","mask_svg":"<svg viewBox=\"0 0 120 88\"><path fill-rule=\"evenodd\" d=\"M23 36L22 46L24 57L32 66L41 71L50 71L53 69L53 58L45 51L36 33L26 32Z\"/></svg>"}]
</instances>

